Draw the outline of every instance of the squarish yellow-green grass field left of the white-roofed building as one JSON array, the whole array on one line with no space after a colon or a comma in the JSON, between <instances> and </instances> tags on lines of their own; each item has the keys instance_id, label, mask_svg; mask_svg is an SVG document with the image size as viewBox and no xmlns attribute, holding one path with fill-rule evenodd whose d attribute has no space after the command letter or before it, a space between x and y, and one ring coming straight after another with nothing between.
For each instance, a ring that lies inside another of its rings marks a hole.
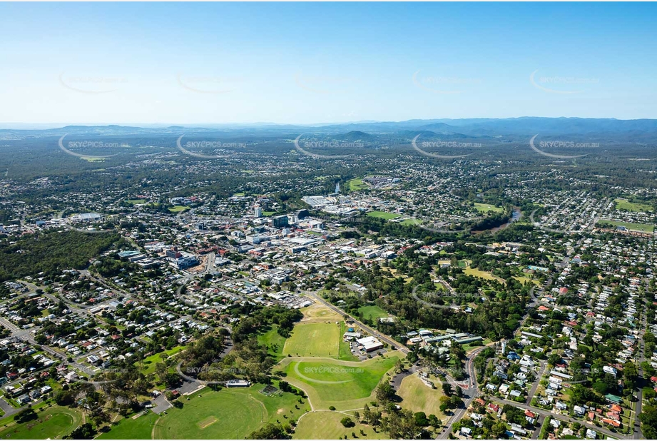
<instances>
[{"instance_id":1,"label":"squarish yellow-green grass field left of the white-roofed building","mask_svg":"<svg viewBox=\"0 0 657 441\"><path fill-rule=\"evenodd\" d=\"M338 357L340 327L330 323L299 323L285 342L283 355L298 357Z\"/></svg>"}]
</instances>

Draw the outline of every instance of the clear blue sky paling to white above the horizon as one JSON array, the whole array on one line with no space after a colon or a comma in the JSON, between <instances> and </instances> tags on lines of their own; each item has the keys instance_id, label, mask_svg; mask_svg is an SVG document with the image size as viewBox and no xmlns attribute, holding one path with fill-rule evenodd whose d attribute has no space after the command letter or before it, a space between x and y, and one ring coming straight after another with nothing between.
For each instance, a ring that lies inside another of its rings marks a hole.
<instances>
[{"instance_id":1,"label":"clear blue sky paling to white above the horizon","mask_svg":"<svg viewBox=\"0 0 657 441\"><path fill-rule=\"evenodd\" d=\"M657 118L657 4L0 3L0 123Z\"/></svg>"}]
</instances>

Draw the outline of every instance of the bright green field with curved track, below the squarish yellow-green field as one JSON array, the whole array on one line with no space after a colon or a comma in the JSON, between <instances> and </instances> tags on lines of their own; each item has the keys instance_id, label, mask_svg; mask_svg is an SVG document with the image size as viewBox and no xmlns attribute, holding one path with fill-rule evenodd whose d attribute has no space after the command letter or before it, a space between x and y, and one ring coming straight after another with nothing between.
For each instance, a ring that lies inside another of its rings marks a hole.
<instances>
[{"instance_id":1,"label":"bright green field with curved track, below the squarish yellow-green field","mask_svg":"<svg viewBox=\"0 0 657 441\"><path fill-rule=\"evenodd\" d=\"M385 358L363 362L285 358L280 370L285 372L287 381L305 390L316 410L330 406L351 410L374 399L372 392L399 356L395 351Z\"/></svg>"}]
</instances>

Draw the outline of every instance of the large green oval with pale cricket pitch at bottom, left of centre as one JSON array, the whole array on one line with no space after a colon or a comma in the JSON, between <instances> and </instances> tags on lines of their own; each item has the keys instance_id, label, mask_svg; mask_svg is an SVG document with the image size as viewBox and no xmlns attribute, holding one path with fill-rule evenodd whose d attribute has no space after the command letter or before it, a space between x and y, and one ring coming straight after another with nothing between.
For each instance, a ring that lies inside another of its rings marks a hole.
<instances>
[{"instance_id":1,"label":"large green oval with pale cricket pitch at bottom, left of centre","mask_svg":"<svg viewBox=\"0 0 657 441\"><path fill-rule=\"evenodd\" d=\"M260 393L265 386L245 389L203 389L183 399L183 408L172 408L158 421L156 439L243 440L267 422L284 424L297 420L310 410L307 400L299 404L297 395L283 393L268 397ZM295 409L298 405L300 409ZM284 417L287 417L285 418Z\"/></svg>"}]
</instances>

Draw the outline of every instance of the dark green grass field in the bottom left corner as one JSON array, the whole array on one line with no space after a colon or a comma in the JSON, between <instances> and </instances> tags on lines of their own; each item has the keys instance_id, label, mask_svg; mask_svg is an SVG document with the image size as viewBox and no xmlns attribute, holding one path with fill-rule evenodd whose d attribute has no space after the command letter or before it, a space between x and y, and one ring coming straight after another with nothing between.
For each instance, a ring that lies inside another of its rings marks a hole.
<instances>
[{"instance_id":1,"label":"dark green grass field in the bottom left corner","mask_svg":"<svg viewBox=\"0 0 657 441\"><path fill-rule=\"evenodd\" d=\"M36 420L9 423L0 430L0 437L9 440L61 439L82 423L82 415L68 407L49 407L37 412Z\"/></svg>"}]
</instances>

